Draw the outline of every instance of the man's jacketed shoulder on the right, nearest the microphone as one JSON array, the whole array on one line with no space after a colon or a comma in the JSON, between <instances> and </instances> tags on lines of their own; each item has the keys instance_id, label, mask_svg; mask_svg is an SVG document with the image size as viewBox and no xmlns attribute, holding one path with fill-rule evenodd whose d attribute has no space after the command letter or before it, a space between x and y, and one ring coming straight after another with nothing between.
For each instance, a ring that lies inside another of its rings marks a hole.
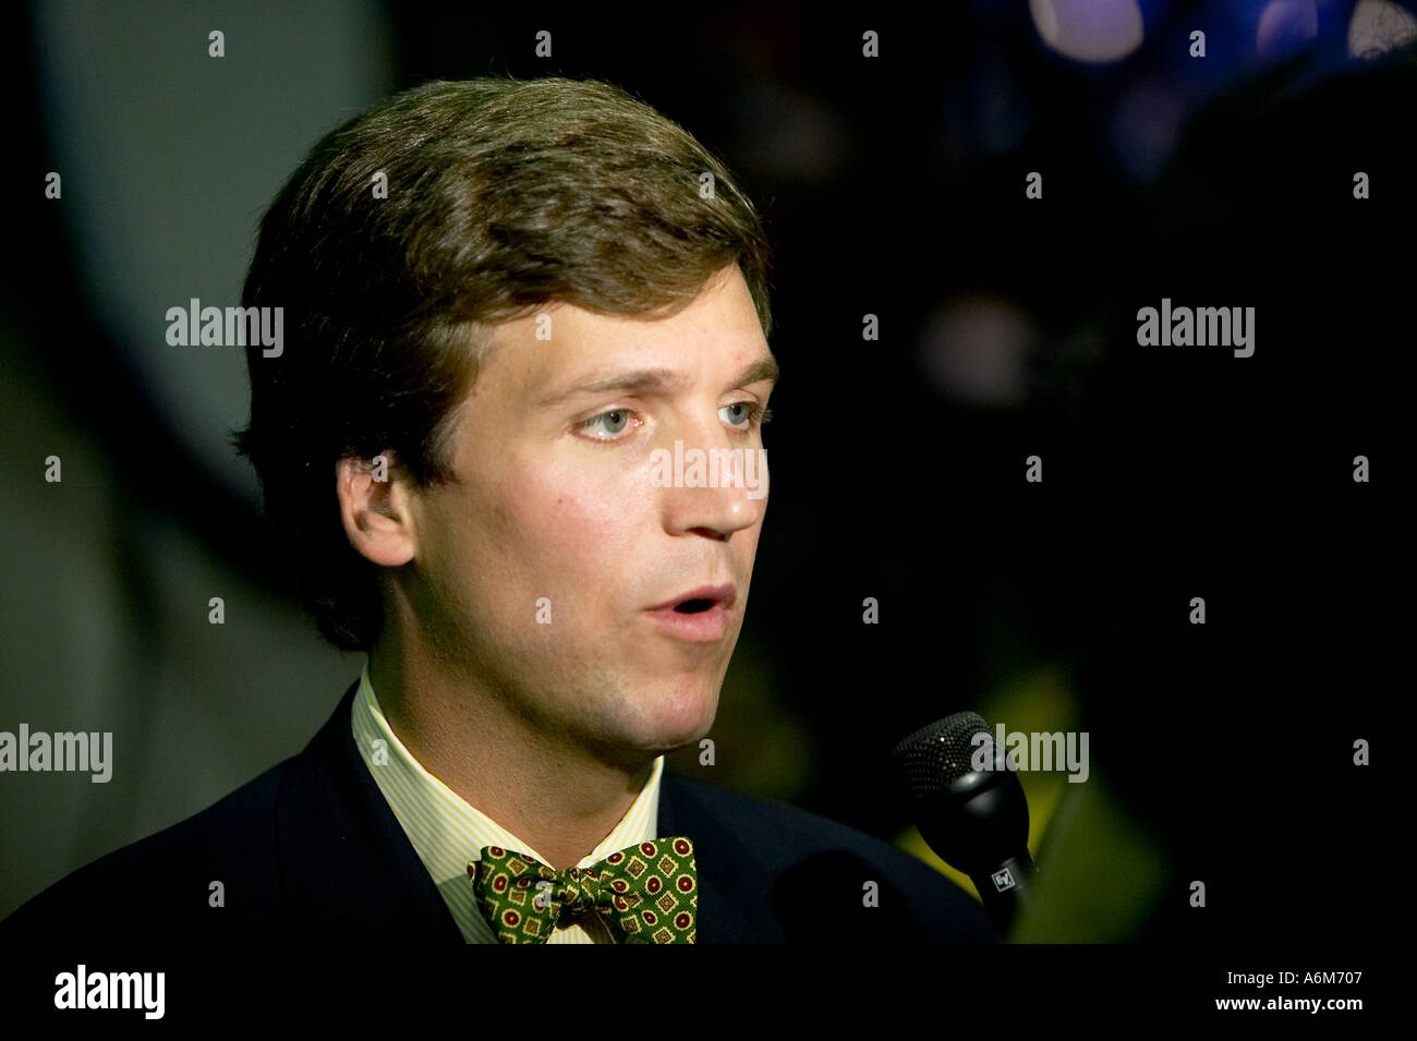
<instances>
[{"instance_id":1,"label":"man's jacketed shoulder on the right, nearest the microphone","mask_svg":"<svg viewBox=\"0 0 1417 1041\"><path fill-rule=\"evenodd\" d=\"M666 773L669 827L694 840L699 870L761 889L782 939L998 942L983 908L951 880L894 846L818 813ZM825 908L828 914L809 914Z\"/></svg>"}]
</instances>

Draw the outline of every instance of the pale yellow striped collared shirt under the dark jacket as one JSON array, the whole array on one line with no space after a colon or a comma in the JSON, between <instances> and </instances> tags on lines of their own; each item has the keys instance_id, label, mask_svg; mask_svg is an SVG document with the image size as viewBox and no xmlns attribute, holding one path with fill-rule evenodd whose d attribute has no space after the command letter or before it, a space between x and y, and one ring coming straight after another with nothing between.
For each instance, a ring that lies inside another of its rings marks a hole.
<instances>
[{"instance_id":1,"label":"pale yellow striped collared shirt under the dark jacket","mask_svg":"<svg viewBox=\"0 0 1417 1041\"><path fill-rule=\"evenodd\" d=\"M350 714L354 731L354 745L364 765L374 775L374 782L388 800L390 809L404 826L408 841L418 851L428 874L432 875L438 892L442 894L448 911L452 912L462 938L468 943L496 943L496 935L487 919L478 909L472 880L468 878L468 861L478 858L483 846L502 846L524 853L533 860L547 863L530 846L497 824L492 817L469 806L459 795L425 770L404 748L384 710L374 697L374 686L368 680L368 663L360 676L359 693ZM629 807L621 823L605 840L581 858L577 867L589 867L605 860L616 850L635 843L659 838L659 778L665 770L665 756L655 759L649 780L640 789L639 797ZM580 923L557 926L548 943L611 943L614 942L599 919L591 921L591 932Z\"/></svg>"}]
</instances>

